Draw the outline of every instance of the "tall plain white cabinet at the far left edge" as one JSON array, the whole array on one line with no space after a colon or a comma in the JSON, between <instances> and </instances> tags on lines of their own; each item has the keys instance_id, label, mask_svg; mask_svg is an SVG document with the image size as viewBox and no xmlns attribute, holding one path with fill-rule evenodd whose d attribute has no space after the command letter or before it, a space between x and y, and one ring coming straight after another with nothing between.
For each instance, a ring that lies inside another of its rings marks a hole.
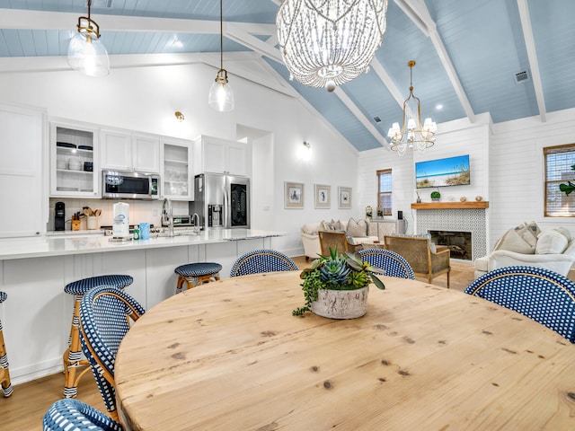
<instances>
[{"instance_id":1,"label":"tall plain white cabinet at the far left edge","mask_svg":"<svg viewBox=\"0 0 575 431\"><path fill-rule=\"evenodd\" d=\"M46 231L48 163L44 110L0 105L0 237Z\"/></svg>"}]
</instances>

